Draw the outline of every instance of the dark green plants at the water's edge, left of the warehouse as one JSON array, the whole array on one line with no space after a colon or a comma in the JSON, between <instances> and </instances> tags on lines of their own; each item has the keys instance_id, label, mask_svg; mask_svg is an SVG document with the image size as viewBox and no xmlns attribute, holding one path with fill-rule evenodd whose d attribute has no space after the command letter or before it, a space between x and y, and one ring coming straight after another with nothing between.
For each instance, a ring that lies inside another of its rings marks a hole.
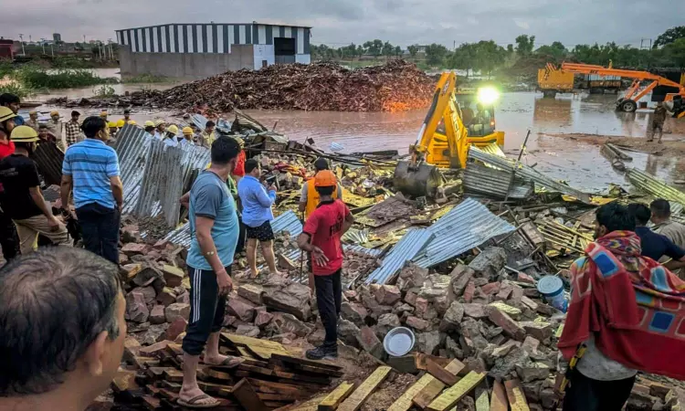
<instances>
[{"instance_id":1,"label":"dark green plants at the water's edge, left of the warehouse","mask_svg":"<svg viewBox=\"0 0 685 411\"><path fill-rule=\"evenodd\" d=\"M98 77L90 70L58 69L56 72L48 73L45 68L33 66L17 69L14 77L30 89L72 89L119 82L113 78Z\"/></svg>"}]
</instances>

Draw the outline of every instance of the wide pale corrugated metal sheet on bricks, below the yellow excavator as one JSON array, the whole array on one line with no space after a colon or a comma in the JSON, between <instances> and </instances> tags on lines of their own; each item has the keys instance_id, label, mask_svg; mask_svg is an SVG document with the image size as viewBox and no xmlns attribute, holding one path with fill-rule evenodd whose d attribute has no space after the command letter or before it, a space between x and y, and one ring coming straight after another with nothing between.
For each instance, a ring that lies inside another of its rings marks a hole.
<instances>
[{"instance_id":1,"label":"wide pale corrugated metal sheet on bricks, below the yellow excavator","mask_svg":"<svg viewBox=\"0 0 685 411\"><path fill-rule=\"evenodd\" d=\"M492 237L509 233L514 227L490 213L485 205L467 198L427 230L435 237L413 258L417 266L426 269L478 247Z\"/></svg>"}]
</instances>

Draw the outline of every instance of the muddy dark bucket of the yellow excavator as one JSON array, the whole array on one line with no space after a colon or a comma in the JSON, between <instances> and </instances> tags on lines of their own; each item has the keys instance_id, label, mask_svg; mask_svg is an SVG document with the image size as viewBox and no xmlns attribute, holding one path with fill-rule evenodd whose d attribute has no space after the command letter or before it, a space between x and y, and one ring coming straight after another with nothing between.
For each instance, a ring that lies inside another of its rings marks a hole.
<instances>
[{"instance_id":1,"label":"muddy dark bucket of the yellow excavator","mask_svg":"<svg viewBox=\"0 0 685 411\"><path fill-rule=\"evenodd\" d=\"M395 167L393 177L395 190L413 197L435 197L437 187L442 184L442 174L435 165L402 161Z\"/></svg>"}]
</instances>

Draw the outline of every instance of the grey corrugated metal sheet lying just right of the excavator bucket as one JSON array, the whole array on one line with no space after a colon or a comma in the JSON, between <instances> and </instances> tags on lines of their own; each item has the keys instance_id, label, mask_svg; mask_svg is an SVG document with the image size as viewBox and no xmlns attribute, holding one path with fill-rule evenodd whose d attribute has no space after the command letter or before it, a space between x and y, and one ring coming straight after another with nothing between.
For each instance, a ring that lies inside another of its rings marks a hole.
<instances>
[{"instance_id":1,"label":"grey corrugated metal sheet lying just right of the excavator bucket","mask_svg":"<svg viewBox=\"0 0 685 411\"><path fill-rule=\"evenodd\" d=\"M490 198L504 199L509 192L511 172L505 172L479 163L469 163L464 171L462 183L464 192ZM511 186L509 198L523 200L533 193L533 185L521 179L515 179Z\"/></svg>"}]
</instances>

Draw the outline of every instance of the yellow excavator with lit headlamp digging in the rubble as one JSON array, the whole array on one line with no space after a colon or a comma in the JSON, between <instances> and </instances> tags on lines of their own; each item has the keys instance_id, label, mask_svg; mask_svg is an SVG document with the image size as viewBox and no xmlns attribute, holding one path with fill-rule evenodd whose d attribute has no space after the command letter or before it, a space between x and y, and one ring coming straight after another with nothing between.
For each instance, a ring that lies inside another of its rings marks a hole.
<instances>
[{"instance_id":1,"label":"yellow excavator with lit headlamp digging in the rubble","mask_svg":"<svg viewBox=\"0 0 685 411\"><path fill-rule=\"evenodd\" d=\"M393 184L405 195L434 197L443 183L438 167L465 168L469 145L504 145L504 132L495 131L497 90L480 89L474 112L469 94L458 93L456 83L453 72L442 73L416 142L409 146L411 158L397 163Z\"/></svg>"}]
</instances>

